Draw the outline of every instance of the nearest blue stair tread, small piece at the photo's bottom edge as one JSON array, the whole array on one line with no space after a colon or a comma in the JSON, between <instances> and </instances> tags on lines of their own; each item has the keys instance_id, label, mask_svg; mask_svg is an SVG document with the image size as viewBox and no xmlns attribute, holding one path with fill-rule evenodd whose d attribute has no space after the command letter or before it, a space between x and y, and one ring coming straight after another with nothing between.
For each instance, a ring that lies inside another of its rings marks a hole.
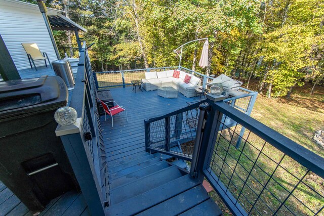
<instances>
[{"instance_id":1,"label":"nearest blue stair tread, small piece at the photo's bottom edge","mask_svg":"<svg viewBox=\"0 0 324 216\"><path fill-rule=\"evenodd\" d=\"M218 207L214 200L208 199L199 205L180 214L182 216L204 215L204 216L219 216L222 215L222 210Z\"/></svg>"}]
</instances>

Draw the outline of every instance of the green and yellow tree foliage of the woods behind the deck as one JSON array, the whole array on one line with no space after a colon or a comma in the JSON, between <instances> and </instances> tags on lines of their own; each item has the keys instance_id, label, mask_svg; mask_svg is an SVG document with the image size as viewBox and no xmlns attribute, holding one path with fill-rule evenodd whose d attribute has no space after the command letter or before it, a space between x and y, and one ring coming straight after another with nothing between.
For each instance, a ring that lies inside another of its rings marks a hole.
<instances>
[{"instance_id":1,"label":"green and yellow tree foliage of the woods behind the deck","mask_svg":"<svg viewBox=\"0 0 324 216\"><path fill-rule=\"evenodd\" d=\"M28 1L28 0L26 0ZM268 97L324 77L324 0L46 0L68 10L83 33L96 71L174 66L173 52L208 37L209 67L197 66L203 41L183 50L182 65L207 74L259 79ZM60 46L68 42L56 32ZM313 92L313 90L312 90Z\"/></svg>"}]
</instances>

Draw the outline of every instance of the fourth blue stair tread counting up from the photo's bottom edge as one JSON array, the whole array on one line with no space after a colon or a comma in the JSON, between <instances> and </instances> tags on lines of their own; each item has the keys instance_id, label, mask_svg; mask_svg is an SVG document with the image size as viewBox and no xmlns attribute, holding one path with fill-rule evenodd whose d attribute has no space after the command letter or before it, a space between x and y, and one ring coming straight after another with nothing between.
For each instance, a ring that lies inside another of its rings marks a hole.
<instances>
[{"instance_id":1,"label":"fourth blue stair tread counting up from the photo's bottom edge","mask_svg":"<svg viewBox=\"0 0 324 216\"><path fill-rule=\"evenodd\" d=\"M134 182L112 189L110 191L111 204L114 205L126 199L130 199L181 176L182 174L176 166L170 166L157 172L153 172L152 174L142 177Z\"/></svg>"}]
</instances>

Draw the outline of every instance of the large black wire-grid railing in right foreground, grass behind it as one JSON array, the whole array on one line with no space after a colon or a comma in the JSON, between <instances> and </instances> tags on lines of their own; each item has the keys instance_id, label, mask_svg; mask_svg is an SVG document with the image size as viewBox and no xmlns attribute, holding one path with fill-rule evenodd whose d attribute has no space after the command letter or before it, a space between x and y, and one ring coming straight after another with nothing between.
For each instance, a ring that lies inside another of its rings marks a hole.
<instances>
[{"instance_id":1,"label":"large black wire-grid railing in right foreground, grass behind it","mask_svg":"<svg viewBox=\"0 0 324 216\"><path fill-rule=\"evenodd\" d=\"M232 103L206 101L210 106L205 104L201 108L205 111L199 111L200 122L190 158L193 178L201 181L207 178L234 215L324 213L324 158L258 122ZM224 123L227 118L234 125L227 126ZM149 140L149 127L146 123L145 126L145 140ZM161 126L164 128L165 124ZM243 133L242 128L245 128ZM165 139L164 132L160 133L160 140Z\"/></svg>"}]
</instances>

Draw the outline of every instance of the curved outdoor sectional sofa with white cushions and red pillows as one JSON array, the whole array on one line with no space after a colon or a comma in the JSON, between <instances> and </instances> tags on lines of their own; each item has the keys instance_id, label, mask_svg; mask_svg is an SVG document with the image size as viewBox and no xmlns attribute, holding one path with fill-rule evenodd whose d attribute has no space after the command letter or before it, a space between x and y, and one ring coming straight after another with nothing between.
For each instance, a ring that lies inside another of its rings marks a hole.
<instances>
[{"instance_id":1,"label":"curved outdoor sectional sofa with white cushions and red pillows","mask_svg":"<svg viewBox=\"0 0 324 216\"><path fill-rule=\"evenodd\" d=\"M148 92L157 90L160 87L174 87L187 98L195 97L195 88L200 85L200 79L192 74L180 71L179 78L173 77L174 70L166 70L161 72L146 72L145 79L142 79L142 87ZM189 83L183 80L186 75L191 76Z\"/></svg>"}]
</instances>

